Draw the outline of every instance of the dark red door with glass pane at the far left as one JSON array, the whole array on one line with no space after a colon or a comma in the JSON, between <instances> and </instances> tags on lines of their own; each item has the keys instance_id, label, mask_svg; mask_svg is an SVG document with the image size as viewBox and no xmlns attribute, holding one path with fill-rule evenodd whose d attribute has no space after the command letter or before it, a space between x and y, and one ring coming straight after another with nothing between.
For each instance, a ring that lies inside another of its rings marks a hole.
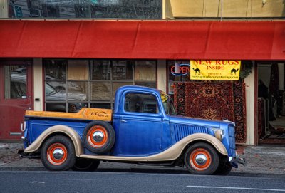
<instances>
[{"instance_id":1,"label":"dark red door with glass pane at the far left","mask_svg":"<svg viewBox=\"0 0 285 193\"><path fill-rule=\"evenodd\" d=\"M32 60L0 60L0 140L20 140L25 110L33 110Z\"/></svg>"}]
</instances>

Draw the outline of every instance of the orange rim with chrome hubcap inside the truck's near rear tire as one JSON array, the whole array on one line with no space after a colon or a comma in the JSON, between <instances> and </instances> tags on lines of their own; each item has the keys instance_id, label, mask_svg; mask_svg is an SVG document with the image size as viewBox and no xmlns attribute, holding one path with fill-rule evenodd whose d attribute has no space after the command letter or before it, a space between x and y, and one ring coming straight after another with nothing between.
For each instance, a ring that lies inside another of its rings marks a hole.
<instances>
[{"instance_id":1,"label":"orange rim with chrome hubcap inside the truck's near rear tire","mask_svg":"<svg viewBox=\"0 0 285 193\"><path fill-rule=\"evenodd\" d=\"M47 150L48 162L52 165L61 165L66 161L68 152L66 146L61 143L53 143Z\"/></svg>"}]
</instances>

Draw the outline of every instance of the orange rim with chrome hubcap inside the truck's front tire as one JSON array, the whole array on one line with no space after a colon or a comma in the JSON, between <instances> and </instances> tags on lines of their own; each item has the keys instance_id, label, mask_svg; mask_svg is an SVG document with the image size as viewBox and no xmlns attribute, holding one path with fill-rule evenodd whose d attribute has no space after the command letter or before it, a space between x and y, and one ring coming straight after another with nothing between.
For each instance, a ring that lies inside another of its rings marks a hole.
<instances>
[{"instance_id":1,"label":"orange rim with chrome hubcap inside the truck's front tire","mask_svg":"<svg viewBox=\"0 0 285 193\"><path fill-rule=\"evenodd\" d=\"M212 163L212 157L207 150L198 148L190 154L190 166L198 171L207 169Z\"/></svg>"}]
</instances>

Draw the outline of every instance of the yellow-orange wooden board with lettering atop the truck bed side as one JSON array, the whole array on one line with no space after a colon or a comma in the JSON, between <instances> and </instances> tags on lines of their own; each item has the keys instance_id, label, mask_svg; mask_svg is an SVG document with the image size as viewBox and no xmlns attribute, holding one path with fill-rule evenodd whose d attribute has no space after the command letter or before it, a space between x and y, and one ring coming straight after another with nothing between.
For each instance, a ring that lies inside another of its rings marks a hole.
<instances>
[{"instance_id":1,"label":"yellow-orange wooden board with lettering atop the truck bed side","mask_svg":"<svg viewBox=\"0 0 285 193\"><path fill-rule=\"evenodd\" d=\"M111 121L112 110L101 108L82 108L77 113L26 110L26 116Z\"/></svg>"}]
</instances>

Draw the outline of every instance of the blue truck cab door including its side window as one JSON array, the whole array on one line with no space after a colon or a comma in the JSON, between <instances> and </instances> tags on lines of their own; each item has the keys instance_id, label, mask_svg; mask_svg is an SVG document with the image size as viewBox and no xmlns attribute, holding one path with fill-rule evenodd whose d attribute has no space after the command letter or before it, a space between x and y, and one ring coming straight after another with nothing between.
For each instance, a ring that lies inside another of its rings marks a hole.
<instances>
[{"instance_id":1,"label":"blue truck cab door including its side window","mask_svg":"<svg viewBox=\"0 0 285 193\"><path fill-rule=\"evenodd\" d=\"M114 155L145 156L161 152L162 110L150 93L127 93L123 113L114 120Z\"/></svg>"}]
</instances>

